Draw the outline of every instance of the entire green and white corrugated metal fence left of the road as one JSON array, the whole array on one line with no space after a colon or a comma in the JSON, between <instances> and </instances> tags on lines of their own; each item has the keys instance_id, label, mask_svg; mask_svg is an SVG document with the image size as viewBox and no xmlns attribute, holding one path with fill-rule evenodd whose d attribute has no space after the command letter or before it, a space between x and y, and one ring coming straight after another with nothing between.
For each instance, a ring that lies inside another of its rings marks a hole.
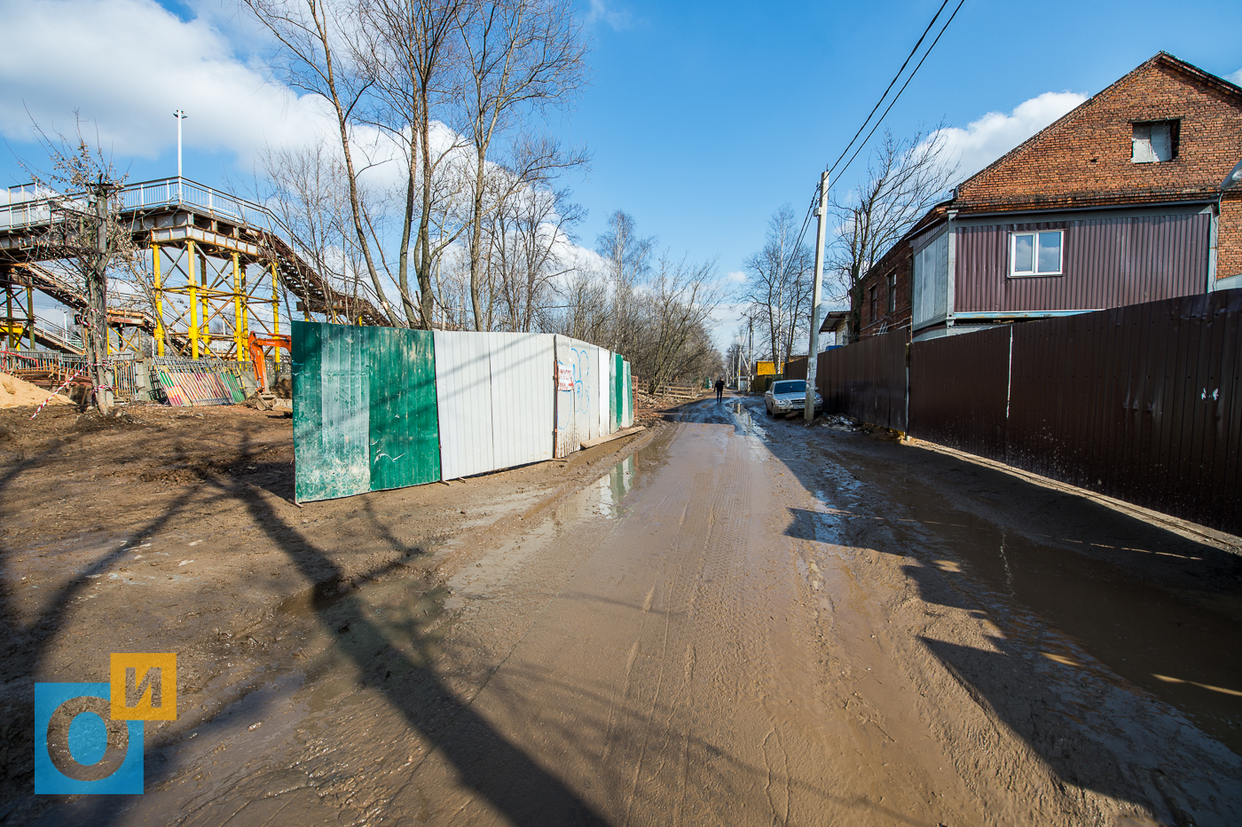
<instances>
[{"instance_id":1,"label":"entire green and white corrugated metal fence left of the road","mask_svg":"<svg viewBox=\"0 0 1242 827\"><path fill-rule=\"evenodd\" d=\"M293 323L299 502L578 451L633 421L630 365L551 334Z\"/></svg>"}]
</instances>

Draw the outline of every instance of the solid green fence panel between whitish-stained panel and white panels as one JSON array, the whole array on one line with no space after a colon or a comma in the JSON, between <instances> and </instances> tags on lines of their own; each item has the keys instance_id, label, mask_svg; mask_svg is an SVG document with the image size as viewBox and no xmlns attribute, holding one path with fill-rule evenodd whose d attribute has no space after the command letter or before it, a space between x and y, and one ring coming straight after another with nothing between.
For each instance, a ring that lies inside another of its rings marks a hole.
<instances>
[{"instance_id":1,"label":"solid green fence panel between whitish-stained panel and white panels","mask_svg":"<svg viewBox=\"0 0 1242 827\"><path fill-rule=\"evenodd\" d=\"M370 489L440 479L435 341L430 330L365 330L370 377Z\"/></svg>"}]
</instances>

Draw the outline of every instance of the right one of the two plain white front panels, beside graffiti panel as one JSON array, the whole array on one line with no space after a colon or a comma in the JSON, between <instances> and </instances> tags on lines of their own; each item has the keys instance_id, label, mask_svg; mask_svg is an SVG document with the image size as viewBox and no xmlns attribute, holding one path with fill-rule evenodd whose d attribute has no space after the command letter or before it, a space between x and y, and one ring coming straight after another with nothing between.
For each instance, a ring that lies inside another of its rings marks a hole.
<instances>
[{"instance_id":1,"label":"right one of the two plain white front panels, beside graffiti panel","mask_svg":"<svg viewBox=\"0 0 1242 827\"><path fill-rule=\"evenodd\" d=\"M493 467L510 468L551 459L556 366L553 337L539 333L483 335L492 359Z\"/></svg>"}]
</instances>

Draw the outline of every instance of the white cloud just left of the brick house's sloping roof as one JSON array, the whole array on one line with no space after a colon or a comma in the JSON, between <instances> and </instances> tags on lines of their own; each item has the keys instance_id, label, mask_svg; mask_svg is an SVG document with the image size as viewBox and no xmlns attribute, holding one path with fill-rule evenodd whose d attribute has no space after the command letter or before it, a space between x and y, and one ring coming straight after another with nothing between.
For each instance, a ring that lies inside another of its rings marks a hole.
<instances>
[{"instance_id":1,"label":"white cloud just left of the brick house's sloping roof","mask_svg":"<svg viewBox=\"0 0 1242 827\"><path fill-rule=\"evenodd\" d=\"M946 158L950 163L958 163L958 173L965 179L1086 99L1086 94L1077 92L1045 92L1020 103L1010 114L989 112L965 129L949 127L928 139L940 138L945 142Z\"/></svg>"}]
</instances>

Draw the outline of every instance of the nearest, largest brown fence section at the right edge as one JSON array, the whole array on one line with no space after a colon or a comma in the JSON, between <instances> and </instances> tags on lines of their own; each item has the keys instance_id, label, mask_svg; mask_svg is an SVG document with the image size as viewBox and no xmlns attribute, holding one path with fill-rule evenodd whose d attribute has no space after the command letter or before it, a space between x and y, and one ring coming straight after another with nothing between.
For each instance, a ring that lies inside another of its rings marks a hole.
<instances>
[{"instance_id":1,"label":"nearest, largest brown fence section at the right edge","mask_svg":"<svg viewBox=\"0 0 1242 827\"><path fill-rule=\"evenodd\" d=\"M1242 534L1242 291L1013 328L1006 462Z\"/></svg>"}]
</instances>

